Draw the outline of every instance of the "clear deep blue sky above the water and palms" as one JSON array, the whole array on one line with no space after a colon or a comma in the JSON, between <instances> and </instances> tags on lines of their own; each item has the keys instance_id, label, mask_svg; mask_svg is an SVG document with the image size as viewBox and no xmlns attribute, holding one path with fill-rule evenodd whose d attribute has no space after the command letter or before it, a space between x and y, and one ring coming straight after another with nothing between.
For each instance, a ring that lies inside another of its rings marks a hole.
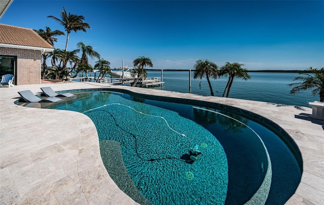
<instances>
[{"instance_id":1,"label":"clear deep blue sky above the water and palms","mask_svg":"<svg viewBox=\"0 0 324 205\"><path fill-rule=\"evenodd\" d=\"M0 23L62 30L60 11L92 27L70 33L68 50L92 46L111 68L149 57L154 69L193 69L197 59L249 70L324 66L324 1L14 0ZM55 48L65 49L66 36ZM94 65L96 59L91 60Z\"/></svg>"}]
</instances>

